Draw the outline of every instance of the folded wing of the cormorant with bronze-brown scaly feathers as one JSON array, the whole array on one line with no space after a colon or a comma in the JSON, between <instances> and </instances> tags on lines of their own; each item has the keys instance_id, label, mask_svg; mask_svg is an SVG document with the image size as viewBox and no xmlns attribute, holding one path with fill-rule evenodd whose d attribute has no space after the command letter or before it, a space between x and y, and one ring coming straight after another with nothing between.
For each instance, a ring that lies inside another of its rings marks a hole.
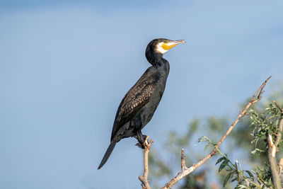
<instances>
[{"instance_id":1,"label":"folded wing of the cormorant with bronze-brown scaly feathers","mask_svg":"<svg viewBox=\"0 0 283 189\"><path fill-rule=\"evenodd\" d=\"M118 130L144 108L144 105L149 102L149 98L155 90L156 79L151 74L150 69L147 69L139 81L129 89L122 99L112 128L111 141Z\"/></svg>"}]
</instances>

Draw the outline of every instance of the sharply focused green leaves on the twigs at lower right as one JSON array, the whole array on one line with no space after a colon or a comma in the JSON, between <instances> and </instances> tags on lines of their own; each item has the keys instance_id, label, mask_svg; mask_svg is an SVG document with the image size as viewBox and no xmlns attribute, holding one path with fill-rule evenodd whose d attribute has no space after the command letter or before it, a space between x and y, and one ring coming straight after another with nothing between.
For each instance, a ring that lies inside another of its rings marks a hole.
<instances>
[{"instance_id":1,"label":"sharply focused green leaves on the twigs at lower right","mask_svg":"<svg viewBox=\"0 0 283 189\"><path fill-rule=\"evenodd\" d=\"M253 137L253 140L250 144L254 144L255 149L250 153L256 155L258 153L265 153L268 149L267 144L267 135L270 134L273 139L277 136L279 120L282 119L281 110L271 103L265 111L260 113L257 110L251 109L248 113L251 124L250 127L253 128L250 135ZM207 142L207 146L216 145L207 137L201 137L199 142ZM265 143L265 148L257 148L258 142ZM280 144L279 144L280 145ZM221 158L216 161L216 164L219 165L219 172L225 168L226 178L224 178L223 186L226 185L228 181L236 181L235 188L270 188L272 187L272 175L270 171L270 165L265 159L265 166L257 166L252 170L244 170L241 168L241 164L236 161L232 161L228 158L227 154L223 154L217 147L217 151L221 154Z\"/></svg>"}]
</instances>

